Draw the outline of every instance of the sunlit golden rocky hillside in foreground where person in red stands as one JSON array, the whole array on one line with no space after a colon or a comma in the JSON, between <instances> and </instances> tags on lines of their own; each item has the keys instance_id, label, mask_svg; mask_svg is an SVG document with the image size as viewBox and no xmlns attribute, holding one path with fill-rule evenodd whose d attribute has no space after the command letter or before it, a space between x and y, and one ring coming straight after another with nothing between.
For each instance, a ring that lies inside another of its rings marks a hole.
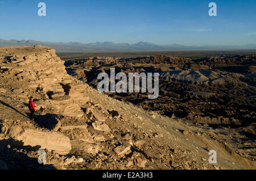
<instances>
[{"instance_id":1,"label":"sunlit golden rocky hillside in foreground where person in red stands","mask_svg":"<svg viewBox=\"0 0 256 181\"><path fill-rule=\"evenodd\" d=\"M0 82L0 169L255 169L245 134L110 98L69 75L51 48L0 48Z\"/></svg>"}]
</instances>

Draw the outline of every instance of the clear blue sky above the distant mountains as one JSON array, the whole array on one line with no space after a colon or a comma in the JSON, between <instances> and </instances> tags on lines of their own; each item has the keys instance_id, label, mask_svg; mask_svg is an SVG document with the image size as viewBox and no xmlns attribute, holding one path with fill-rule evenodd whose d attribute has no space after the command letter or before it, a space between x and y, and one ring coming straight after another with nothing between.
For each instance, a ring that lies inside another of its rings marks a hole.
<instances>
[{"instance_id":1,"label":"clear blue sky above the distant mountains","mask_svg":"<svg viewBox=\"0 0 256 181\"><path fill-rule=\"evenodd\" d=\"M38 16L38 3L47 16ZM209 3L217 16L209 16ZM160 45L256 43L256 1L0 0L0 38Z\"/></svg>"}]
</instances>

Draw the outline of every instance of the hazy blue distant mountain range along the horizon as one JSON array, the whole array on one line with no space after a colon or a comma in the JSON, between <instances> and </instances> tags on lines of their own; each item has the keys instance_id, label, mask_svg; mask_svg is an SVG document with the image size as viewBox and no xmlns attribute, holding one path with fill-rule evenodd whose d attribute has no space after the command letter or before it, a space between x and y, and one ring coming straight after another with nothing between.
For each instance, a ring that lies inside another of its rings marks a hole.
<instances>
[{"instance_id":1,"label":"hazy blue distant mountain range along the horizon","mask_svg":"<svg viewBox=\"0 0 256 181\"><path fill-rule=\"evenodd\" d=\"M131 50L255 50L256 44L247 45L204 45L204 46L185 46L179 44L157 45L148 42L139 42L137 44L96 42L83 44L79 42L48 42L35 40L3 40L0 39L0 47L43 45L56 49L57 52L97 52L97 51L131 51Z\"/></svg>"}]
</instances>

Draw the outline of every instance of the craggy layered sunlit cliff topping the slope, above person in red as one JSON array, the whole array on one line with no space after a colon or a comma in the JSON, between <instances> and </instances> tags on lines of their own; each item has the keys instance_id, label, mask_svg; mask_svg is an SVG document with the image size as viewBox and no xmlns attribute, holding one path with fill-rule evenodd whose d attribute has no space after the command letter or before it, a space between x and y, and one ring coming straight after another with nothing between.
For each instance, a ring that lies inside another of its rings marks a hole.
<instances>
[{"instance_id":1,"label":"craggy layered sunlit cliff topping the slope, above person in red","mask_svg":"<svg viewBox=\"0 0 256 181\"><path fill-rule=\"evenodd\" d=\"M5 65L1 66L4 73L14 74L19 81L13 92L20 96L38 92L46 99L56 100L52 104L63 115L81 117L79 106L89 101L86 86L67 74L64 61L56 56L55 50L42 46L22 49L13 48L15 55L6 54Z\"/></svg>"}]
</instances>

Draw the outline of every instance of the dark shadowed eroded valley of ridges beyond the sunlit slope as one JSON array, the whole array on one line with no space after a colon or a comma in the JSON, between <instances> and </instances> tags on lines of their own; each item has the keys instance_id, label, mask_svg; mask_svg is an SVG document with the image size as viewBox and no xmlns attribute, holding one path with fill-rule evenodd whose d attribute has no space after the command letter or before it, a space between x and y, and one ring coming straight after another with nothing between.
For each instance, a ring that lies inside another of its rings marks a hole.
<instances>
[{"instance_id":1,"label":"dark shadowed eroded valley of ridges beyond the sunlit slope","mask_svg":"<svg viewBox=\"0 0 256 181\"><path fill-rule=\"evenodd\" d=\"M65 63L68 73L97 88L97 75L159 73L160 96L148 100L143 94L113 94L116 99L146 110L196 123L241 125L255 122L256 56L184 58L88 58Z\"/></svg>"}]
</instances>

